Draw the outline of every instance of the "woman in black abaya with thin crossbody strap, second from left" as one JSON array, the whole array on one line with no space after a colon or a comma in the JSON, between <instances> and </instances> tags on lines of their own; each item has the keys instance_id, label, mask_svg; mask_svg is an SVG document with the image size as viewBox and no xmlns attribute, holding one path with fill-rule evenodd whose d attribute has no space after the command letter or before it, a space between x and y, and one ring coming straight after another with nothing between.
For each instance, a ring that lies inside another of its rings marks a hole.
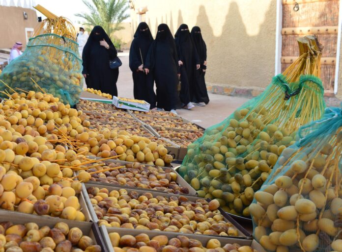
<instances>
[{"instance_id":1,"label":"woman in black abaya with thin crossbody strap, second from left","mask_svg":"<svg viewBox=\"0 0 342 252\"><path fill-rule=\"evenodd\" d=\"M156 106L156 94L153 90L154 78L152 71L147 75L143 70L144 62L153 37L145 22L139 24L129 50L129 67L132 70L134 82L134 99L150 103L150 108Z\"/></svg>"}]
</instances>

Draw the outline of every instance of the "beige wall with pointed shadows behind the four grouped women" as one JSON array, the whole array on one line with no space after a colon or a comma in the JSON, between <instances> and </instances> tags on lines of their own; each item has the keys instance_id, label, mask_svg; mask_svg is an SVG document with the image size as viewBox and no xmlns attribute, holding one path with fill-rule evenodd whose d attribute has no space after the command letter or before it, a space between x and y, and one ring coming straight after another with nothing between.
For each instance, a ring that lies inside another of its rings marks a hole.
<instances>
[{"instance_id":1,"label":"beige wall with pointed shadows behind the four grouped women","mask_svg":"<svg viewBox=\"0 0 342 252\"><path fill-rule=\"evenodd\" d=\"M276 0L135 0L147 5L145 21L155 36L166 23L174 34L198 25L207 45L209 84L266 87L275 72ZM139 15L131 10L132 32Z\"/></svg>"}]
</instances>

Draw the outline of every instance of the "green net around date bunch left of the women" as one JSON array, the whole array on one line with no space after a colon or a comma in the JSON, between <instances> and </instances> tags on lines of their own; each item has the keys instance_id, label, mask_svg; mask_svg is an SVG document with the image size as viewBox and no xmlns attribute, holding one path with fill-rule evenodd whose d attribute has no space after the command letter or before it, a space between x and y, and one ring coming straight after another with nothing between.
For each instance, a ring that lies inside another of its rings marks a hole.
<instances>
[{"instance_id":1,"label":"green net around date bunch left of the women","mask_svg":"<svg viewBox=\"0 0 342 252\"><path fill-rule=\"evenodd\" d=\"M79 100L82 78L78 44L53 33L31 38L24 53L6 66L0 76L0 80L15 91L42 92L36 82L44 92L70 105ZM0 82L0 89L9 88Z\"/></svg>"}]
</instances>

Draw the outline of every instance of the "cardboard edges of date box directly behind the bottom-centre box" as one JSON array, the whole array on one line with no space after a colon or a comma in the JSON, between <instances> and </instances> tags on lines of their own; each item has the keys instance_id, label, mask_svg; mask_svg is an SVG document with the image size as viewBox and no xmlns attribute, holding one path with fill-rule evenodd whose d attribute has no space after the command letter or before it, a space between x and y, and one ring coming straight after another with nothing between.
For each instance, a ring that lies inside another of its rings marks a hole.
<instances>
[{"instance_id":1,"label":"cardboard edges of date box directly behind the bottom-centre box","mask_svg":"<svg viewBox=\"0 0 342 252\"><path fill-rule=\"evenodd\" d=\"M97 185L86 183L82 187L82 191L86 195L86 197L88 197L86 189L89 188L89 187L93 187L93 186L94 187L99 187L99 188L106 188L106 189L108 189L109 192L111 192L113 190L118 191L118 190L122 189L121 187L116 187L116 186L97 186ZM124 189L128 193L130 193L130 192L137 192L139 195L142 195L143 193L146 192L143 189L142 190L141 189L135 189L135 188L134 189L133 188L124 188ZM181 195L175 195L175 194L170 194L170 193L161 193L161 192L158 192L158 191L151 192L151 194L153 195L153 197L162 196L162 197L165 197L167 199L169 199L171 196L175 196L177 198L181 197ZM203 198L194 197L194 196L186 196L186 198L189 201L192 201L192 202L196 202L197 200L204 200ZM92 205L90 203L90 199L86 198L86 202L87 202L87 206L89 208L89 212L90 212L91 218L94 220L95 223L98 223L99 220L98 220L98 218L97 218L97 216L95 214L94 208L92 207ZM208 202L210 202L210 201L208 201ZM242 227L234 219L232 219L224 210L219 208L219 211L224 216L225 221L231 223L238 230L239 236L228 236L228 237L233 237L233 238L238 238L238 239L252 239L251 238L252 237L251 233L249 233L244 227ZM142 230L140 230L140 231L142 231ZM143 231L146 231L146 230L143 230ZM160 233L160 232L163 232L163 231L158 231L158 232ZM198 234L194 234L194 235L198 236ZM212 238L218 237L218 235L206 235L206 236L210 236Z\"/></svg>"}]
</instances>

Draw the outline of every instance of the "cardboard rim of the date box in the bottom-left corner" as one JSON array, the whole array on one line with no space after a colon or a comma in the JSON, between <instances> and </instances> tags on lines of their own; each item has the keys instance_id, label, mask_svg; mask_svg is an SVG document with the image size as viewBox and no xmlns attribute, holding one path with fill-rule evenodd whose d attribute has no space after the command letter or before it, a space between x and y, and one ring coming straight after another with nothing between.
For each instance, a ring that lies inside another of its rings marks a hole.
<instances>
[{"instance_id":1,"label":"cardboard rim of the date box in the bottom-left corner","mask_svg":"<svg viewBox=\"0 0 342 252\"><path fill-rule=\"evenodd\" d=\"M65 219L59 219L50 216L38 216L33 214L25 214L14 211L0 210L0 222L11 222L13 224L26 224L29 222L36 223L39 227L48 226L50 228L55 227L59 222L66 223L69 228L78 227L82 230L83 235L87 235L99 245L102 252L107 252L106 241L102 238L99 227L95 223L90 222L78 222Z\"/></svg>"}]
</instances>

